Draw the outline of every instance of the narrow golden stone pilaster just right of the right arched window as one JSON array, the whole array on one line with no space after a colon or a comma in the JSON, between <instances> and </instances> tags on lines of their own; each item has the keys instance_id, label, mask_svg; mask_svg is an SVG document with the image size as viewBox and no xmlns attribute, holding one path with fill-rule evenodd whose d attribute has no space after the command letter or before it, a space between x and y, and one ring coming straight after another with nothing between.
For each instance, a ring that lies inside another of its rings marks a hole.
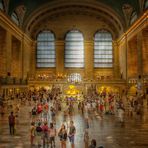
<instances>
[{"instance_id":1,"label":"narrow golden stone pilaster just right of the right arched window","mask_svg":"<svg viewBox=\"0 0 148 148\"><path fill-rule=\"evenodd\" d=\"M119 48L116 41L113 42L113 66L114 66L114 78L120 78L120 68L119 68Z\"/></svg>"}]
</instances>

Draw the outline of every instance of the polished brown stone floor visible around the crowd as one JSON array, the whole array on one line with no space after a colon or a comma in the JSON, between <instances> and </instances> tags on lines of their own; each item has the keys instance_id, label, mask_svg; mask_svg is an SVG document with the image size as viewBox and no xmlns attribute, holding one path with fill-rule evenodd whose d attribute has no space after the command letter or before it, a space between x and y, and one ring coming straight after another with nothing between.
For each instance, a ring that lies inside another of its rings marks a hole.
<instances>
[{"instance_id":1,"label":"polished brown stone floor visible around the crowd","mask_svg":"<svg viewBox=\"0 0 148 148\"><path fill-rule=\"evenodd\" d=\"M0 117L0 148L29 148L30 107L22 106L16 125L16 134L9 135L8 113ZM148 148L148 110L144 109L144 116L126 117L125 125L121 126L114 115L104 115L102 120L91 116L89 136L97 140L97 146L104 148ZM56 128L62 123L62 113L58 114ZM75 147L83 148L84 118L75 109L73 121L76 126ZM60 148L56 138L56 147ZM67 147L70 148L69 141Z\"/></svg>"}]
</instances>

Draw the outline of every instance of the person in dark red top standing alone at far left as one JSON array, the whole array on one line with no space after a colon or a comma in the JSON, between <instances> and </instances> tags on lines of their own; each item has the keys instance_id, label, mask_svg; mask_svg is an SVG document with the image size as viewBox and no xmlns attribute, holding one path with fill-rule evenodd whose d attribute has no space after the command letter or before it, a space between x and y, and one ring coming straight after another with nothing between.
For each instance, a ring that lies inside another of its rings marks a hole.
<instances>
[{"instance_id":1,"label":"person in dark red top standing alone at far left","mask_svg":"<svg viewBox=\"0 0 148 148\"><path fill-rule=\"evenodd\" d=\"M9 129L10 129L10 135L14 135L15 132L15 116L13 115L13 112L8 117L9 120Z\"/></svg>"}]
</instances>

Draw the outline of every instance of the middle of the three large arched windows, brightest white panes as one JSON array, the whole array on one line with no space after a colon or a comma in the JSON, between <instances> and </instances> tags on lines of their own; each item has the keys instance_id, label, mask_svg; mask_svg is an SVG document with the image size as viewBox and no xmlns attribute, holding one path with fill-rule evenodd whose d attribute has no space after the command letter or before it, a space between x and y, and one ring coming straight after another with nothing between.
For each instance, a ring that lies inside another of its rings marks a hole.
<instances>
[{"instance_id":1,"label":"middle of the three large arched windows, brightest white panes","mask_svg":"<svg viewBox=\"0 0 148 148\"><path fill-rule=\"evenodd\" d=\"M78 30L71 30L65 38L65 67L84 67L84 39Z\"/></svg>"}]
</instances>

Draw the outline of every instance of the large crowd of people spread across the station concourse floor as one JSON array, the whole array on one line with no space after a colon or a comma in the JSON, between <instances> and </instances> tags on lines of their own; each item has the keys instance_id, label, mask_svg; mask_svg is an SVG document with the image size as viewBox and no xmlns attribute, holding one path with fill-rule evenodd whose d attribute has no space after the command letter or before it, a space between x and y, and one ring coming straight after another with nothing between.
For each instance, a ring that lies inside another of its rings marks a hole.
<instances>
[{"instance_id":1,"label":"large crowd of people spread across the station concourse floor","mask_svg":"<svg viewBox=\"0 0 148 148\"><path fill-rule=\"evenodd\" d=\"M85 148L96 148L96 140L89 135L91 118L103 120L105 115L115 115L121 122L125 122L125 115L132 117L142 115L142 96L120 96L119 93L102 91L96 92L91 87L83 100L72 99L67 96L65 101L62 99L60 88L54 87L49 91L44 88L39 90L26 90L16 93L7 99L8 111L11 114L8 117L10 134L15 134L15 124L19 116L20 107L24 105L30 106L30 144L31 146L56 147L55 138L58 137L61 148L67 147L67 141L71 144L71 148L75 146L75 135L77 127L73 121L74 110L77 106L78 112L83 116L85 122L84 128L84 145ZM12 103L13 100L17 100ZM63 107L63 104L65 106ZM1 106L1 115L4 114L4 106ZM57 129L56 117L62 113L63 122ZM100 146L100 148L103 146Z\"/></svg>"}]
</instances>

